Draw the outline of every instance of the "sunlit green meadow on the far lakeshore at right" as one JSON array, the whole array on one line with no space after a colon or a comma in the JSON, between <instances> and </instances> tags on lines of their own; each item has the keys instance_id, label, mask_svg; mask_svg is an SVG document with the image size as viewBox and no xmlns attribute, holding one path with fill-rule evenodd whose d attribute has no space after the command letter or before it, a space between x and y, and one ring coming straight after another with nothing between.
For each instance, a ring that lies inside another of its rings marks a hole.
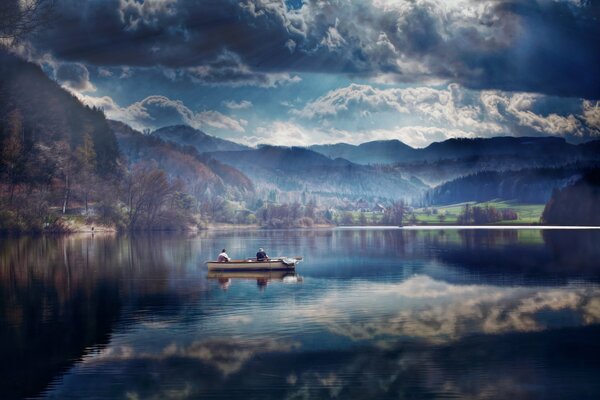
<instances>
[{"instance_id":1,"label":"sunlit green meadow on the far lakeshore at right","mask_svg":"<svg viewBox=\"0 0 600 400\"><path fill-rule=\"evenodd\" d=\"M460 204L451 204L446 206L436 206L427 208L415 208L413 210L416 217L417 224L427 225L454 225L458 215L462 212L464 206L470 204L471 206L495 207L497 210L512 209L517 212L519 218L513 221L501 221L499 224L507 225L531 225L539 224L540 217L544 211L544 204L523 204L514 201L501 201L493 200L484 203L468 202ZM360 212L352 212L354 217L354 223L359 223ZM367 225L378 224L383 218L383 214L376 214L372 212L365 212ZM440 220L440 215L444 215L444 220ZM406 224L411 223L412 213L408 213L405 217Z\"/></svg>"}]
</instances>

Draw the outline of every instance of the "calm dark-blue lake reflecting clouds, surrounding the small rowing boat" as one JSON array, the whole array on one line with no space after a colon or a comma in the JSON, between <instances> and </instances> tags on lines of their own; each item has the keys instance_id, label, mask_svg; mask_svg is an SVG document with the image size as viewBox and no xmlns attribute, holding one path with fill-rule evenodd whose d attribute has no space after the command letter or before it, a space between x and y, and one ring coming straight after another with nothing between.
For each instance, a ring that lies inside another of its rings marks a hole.
<instances>
[{"instance_id":1,"label":"calm dark-blue lake reflecting clouds, surrounding the small rowing boat","mask_svg":"<svg viewBox=\"0 0 600 400\"><path fill-rule=\"evenodd\" d=\"M230 256L296 273L209 276ZM598 399L600 232L0 239L0 398Z\"/></svg>"}]
</instances>

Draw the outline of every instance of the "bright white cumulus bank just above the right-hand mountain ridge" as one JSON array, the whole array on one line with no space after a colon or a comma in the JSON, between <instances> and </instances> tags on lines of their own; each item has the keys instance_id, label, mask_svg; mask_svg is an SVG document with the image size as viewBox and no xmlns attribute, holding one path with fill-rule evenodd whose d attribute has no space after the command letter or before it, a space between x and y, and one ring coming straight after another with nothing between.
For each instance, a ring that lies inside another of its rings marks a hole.
<instances>
[{"instance_id":1,"label":"bright white cumulus bank just above the right-hand mountain ridge","mask_svg":"<svg viewBox=\"0 0 600 400\"><path fill-rule=\"evenodd\" d=\"M374 114L391 113L398 114L397 119L402 122L399 127L411 127L417 120L421 128L436 128L431 129L431 133L443 129L447 132L461 131L468 137L524 132L582 136L586 132L582 120L588 129L598 126L596 114L600 112L597 111L597 104L584 101L583 115L536 112L536 105L544 99L546 96L532 93L477 92L457 84L450 84L443 89L427 86L377 88L351 84L331 90L291 113L333 125L339 121L365 117L376 122L379 118ZM420 132L425 133L423 129Z\"/></svg>"}]
</instances>

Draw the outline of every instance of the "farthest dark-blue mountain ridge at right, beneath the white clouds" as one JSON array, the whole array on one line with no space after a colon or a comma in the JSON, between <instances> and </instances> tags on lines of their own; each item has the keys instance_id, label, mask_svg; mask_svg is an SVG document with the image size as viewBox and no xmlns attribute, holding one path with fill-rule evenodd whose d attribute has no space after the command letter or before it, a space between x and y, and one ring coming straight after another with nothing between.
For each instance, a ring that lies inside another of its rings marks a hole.
<instances>
[{"instance_id":1,"label":"farthest dark-blue mountain ridge at right, beneath the white clouds","mask_svg":"<svg viewBox=\"0 0 600 400\"><path fill-rule=\"evenodd\" d=\"M397 140L310 148L358 164L388 164L397 173L415 176L432 186L480 171L554 168L600 160L600 141L574 145L555 137L448 139L423 149L413 149Z\"/></svg>"}]
</instances>

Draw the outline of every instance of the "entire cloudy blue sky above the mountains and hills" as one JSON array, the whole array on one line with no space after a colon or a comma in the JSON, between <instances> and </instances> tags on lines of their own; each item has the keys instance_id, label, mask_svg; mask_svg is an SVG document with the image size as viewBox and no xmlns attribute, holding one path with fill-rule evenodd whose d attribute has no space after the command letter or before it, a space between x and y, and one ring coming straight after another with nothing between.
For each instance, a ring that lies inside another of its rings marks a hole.
<instances>
[{"instance_id":1,"label":"entire cloudy blue sky above the mountains and hills","mask_svg":"<svg viewBox=\"0 0 600 400\"><path fill-rule=\"evenodd\" d=\"M284 146L600 139L600 1L56 1L19 51L139 130Z\"/></svg>"}]
</instances>

